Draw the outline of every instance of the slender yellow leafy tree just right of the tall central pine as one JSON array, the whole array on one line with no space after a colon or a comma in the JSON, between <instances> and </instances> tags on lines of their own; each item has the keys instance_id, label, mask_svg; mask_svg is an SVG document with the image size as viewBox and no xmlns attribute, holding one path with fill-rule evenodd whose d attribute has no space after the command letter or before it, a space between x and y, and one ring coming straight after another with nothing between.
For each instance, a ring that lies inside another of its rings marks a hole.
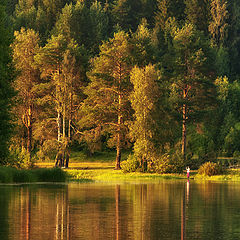
<instances>
[{"instance_id":1,"label":"slender yellow leafy tree just right of the tall central pine","mask_svg":"<svg viewBox=\"0 0 240 240\"><path fill-rule=\"evenodd\" d=\"M156 114L159 111L158 73L153 65L144 68L135 67L131 71L133 91L130 95L134 110L134 121L130 127L130 135L134 143L134 154L143 162L152 159L156 153Z\"/></svg>"}]
</instances>

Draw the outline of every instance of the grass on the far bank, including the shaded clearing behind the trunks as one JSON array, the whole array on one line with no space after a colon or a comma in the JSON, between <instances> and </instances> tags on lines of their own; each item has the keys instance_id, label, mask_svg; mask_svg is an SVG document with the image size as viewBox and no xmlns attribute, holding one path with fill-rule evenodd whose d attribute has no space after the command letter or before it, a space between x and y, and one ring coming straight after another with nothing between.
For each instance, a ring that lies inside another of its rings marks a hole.
<instances>
[{"instance_id":1,"label":"grass on the far bank, including the shaded clearing behind the trunks","mask_svg":"<svg viewBox=\"0 0 240 240\"><path fill-rule=\"evenodd\" d=\"M129 152L124 152L122 161ZM96 153L87 157L82 152L73 152L70 156L69 168L54 168L52 162L38 162L36 169L17 170L10 167L0 167L0 183L22 183L22 182L137 182L154 181L161 179L186 179L186 174L156 174L156 173L123 173L114 170L115 152ZM240 181L240 171L231 169L223 175L204 176L191 171L191 179L197 181Z\"/></svg>"}]
</instances>

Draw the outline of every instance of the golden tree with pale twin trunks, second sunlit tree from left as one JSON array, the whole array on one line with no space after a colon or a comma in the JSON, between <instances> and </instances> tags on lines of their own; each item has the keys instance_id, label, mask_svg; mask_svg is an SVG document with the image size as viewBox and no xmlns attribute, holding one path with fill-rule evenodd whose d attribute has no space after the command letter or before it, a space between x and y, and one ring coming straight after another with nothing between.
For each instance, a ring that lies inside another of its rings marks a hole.
<instances>
[{"instance_id":1,"label":"golden tree with pale twin trunks, second sunlit tree from left","mask_svg":"<svg viewBox=\"0 0 240 240\"><path fill-rule=\"evenodd\" d=\"M73 40L67 41L63 35L59 34L52 36L36 56L41 77L46 81L46 87L43 88L43 103L50 101L49 107L54 106L57 112L57 141L59 143L66 140L66 116L67 114L70 116L72 110L73 81L77 79L74 54L77 51L78 46ZM67 108L69 113L67 113ZM52 114L55 114L54 111Z\"/></svg>"}]
</instances>

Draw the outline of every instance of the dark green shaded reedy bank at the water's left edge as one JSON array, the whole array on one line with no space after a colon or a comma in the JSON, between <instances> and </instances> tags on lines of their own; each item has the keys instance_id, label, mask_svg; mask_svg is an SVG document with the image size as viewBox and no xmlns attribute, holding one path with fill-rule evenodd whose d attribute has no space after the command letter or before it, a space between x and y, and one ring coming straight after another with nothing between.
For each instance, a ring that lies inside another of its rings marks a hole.
<instances>
[{"instance_id":1,"label":"dark green shaded reedy bank at the water's left edge","mask_svg":"<svg viewBox=\"0 0 240 240\"><path fill-rule=\"evenodd\" d=\"M65 182L67 174L59 168L19 170L0 167L0 183Z\"/></svg>"}]
</instances>

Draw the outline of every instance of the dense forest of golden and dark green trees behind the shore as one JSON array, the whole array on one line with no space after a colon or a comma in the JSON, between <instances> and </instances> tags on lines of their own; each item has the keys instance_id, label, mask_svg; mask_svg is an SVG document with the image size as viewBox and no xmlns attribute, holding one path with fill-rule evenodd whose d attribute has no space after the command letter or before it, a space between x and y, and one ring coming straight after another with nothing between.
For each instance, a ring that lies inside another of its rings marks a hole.
<instances>
[{"instance_id":1,"label":"dense forest of golden and dark green trees behind the shore","mask_svg":"<svg viewBox=\"0 0 240 240\"><path fill-rule=\"evenodd\" d=\"M169 172L240 156L237 0L4 0L0 52L2 163L116 149L120 168L129 149Z\"/></svg>"}]
</instances>

